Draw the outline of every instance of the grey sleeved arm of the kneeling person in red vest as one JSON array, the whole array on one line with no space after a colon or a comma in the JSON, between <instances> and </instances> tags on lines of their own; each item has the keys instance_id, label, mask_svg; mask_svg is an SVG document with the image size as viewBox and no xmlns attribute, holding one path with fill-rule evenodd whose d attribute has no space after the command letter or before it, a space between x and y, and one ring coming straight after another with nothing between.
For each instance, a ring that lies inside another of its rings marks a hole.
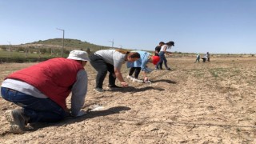
<instances>
[{"instance_id":1,"label":"grey sleeved arm of the kneeling person in red vest","mask_svg":"<svg viewBox=\"0 0 256 144\"><path fill-rule=\"evenodd\" d=\"M86 70L79 70L77 74L77 81L72 87L71 96L71 115L81 116L81 109L85 103L88 78Z\"/></svg>"}]
</instances>

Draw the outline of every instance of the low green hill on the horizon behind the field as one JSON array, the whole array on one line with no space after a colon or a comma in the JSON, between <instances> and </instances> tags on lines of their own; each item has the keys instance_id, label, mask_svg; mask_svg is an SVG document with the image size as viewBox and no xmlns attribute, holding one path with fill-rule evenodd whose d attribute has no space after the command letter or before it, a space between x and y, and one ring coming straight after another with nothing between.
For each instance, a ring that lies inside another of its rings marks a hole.
<instances>
[{"instance_id":1,"label":"low green hill on the horizon behind the field","mask_svg":"<svg viewBox=\"0 0 256 144\"><path fill-rule=\"evenodd\" d=\"M62 38L30 42L21 45L0 45L0 58L54 58L67 57L71 50L85 50L89 54L97 50L112 49L110 46L98 46L78 39ZM114 49L116 49L114 47Z\"/></svg>"}]
</instances>

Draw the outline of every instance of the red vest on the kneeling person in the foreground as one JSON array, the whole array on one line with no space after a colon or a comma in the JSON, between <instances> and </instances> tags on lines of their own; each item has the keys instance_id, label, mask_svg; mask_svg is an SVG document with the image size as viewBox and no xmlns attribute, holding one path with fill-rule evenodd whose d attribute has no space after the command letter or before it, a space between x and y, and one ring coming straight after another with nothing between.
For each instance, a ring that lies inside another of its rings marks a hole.
<instances>
[{"instance_id":1,"label":"red vest on the kneeling person in the foreground","mask_svg":"<svg viewBox=\"0 0 256 144\"><path fill-rule=\"evenodd\" d=\"M53 58L18 70L7 78L29 83L66 109L66 98L76 81L78 70L82 69L82 65L72 59Z\"/></svg>"}]
</instances>

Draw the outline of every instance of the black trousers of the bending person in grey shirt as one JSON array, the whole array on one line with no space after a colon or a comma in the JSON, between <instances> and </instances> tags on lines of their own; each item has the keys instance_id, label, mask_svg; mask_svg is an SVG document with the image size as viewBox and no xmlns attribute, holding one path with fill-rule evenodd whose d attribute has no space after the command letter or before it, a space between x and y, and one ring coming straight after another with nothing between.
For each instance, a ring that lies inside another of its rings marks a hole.
<instances>
[{"instance_id":1,"label":"black trousers of the bending person in grey shirt","mask_svg":"<svg viewBox=\"0 0 256 144\"><path fill-rule=\"evenodd\" d=\"M115 85L115 74L114 74L114 66L106 63L100 56L91 54L90 55L90 65L94 67L95 70L97 70L97 76L96 76L96 88L102 88L104 79L106 78L107 72L110 72L109 74L109 85L114 86Z\"/></svg>"}]
</instances>

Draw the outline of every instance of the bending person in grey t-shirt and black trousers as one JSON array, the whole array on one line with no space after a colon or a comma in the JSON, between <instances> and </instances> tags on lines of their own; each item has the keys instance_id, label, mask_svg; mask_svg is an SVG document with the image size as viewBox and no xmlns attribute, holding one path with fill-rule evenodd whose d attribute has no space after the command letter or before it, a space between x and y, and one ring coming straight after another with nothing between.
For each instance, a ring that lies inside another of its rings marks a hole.
<instances>
[{"instance_id":1,"label":"bending person in grey t-shirt and black trousers","mask_svg":"<svg viewBox=\"0 0 256 144\"><path fill-rule=\"evenodd\" d=\"M128 86L128 83L122 77L121 67L125 62L134 62L140 58L138 53L125 50L98 50L90 55L90 64L97 70L96 86L97 92L104 92L102 89L104 79L109 72L109 88L120 88L116 86L115 79L118 78L123 87Z\"/></svg>"}]
</instances>

